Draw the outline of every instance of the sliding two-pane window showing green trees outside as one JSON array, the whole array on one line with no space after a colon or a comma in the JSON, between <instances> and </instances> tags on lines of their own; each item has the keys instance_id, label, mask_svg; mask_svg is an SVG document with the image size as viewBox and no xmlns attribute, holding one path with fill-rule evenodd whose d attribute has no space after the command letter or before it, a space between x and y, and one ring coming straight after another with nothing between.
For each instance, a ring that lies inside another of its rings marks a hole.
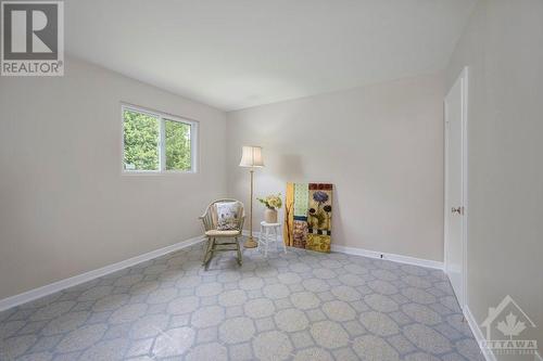
<instances>
[{"instance_id":1,"label":"sliding two-pane window showing green trees outside","mask_svg":"<svg viewBox=\"0 0 543 361\"><path fill-rule=\"evenodd\" d=\"M195 171L198 123L123 105L123 169Z\"/></svg>"}]
</instances>

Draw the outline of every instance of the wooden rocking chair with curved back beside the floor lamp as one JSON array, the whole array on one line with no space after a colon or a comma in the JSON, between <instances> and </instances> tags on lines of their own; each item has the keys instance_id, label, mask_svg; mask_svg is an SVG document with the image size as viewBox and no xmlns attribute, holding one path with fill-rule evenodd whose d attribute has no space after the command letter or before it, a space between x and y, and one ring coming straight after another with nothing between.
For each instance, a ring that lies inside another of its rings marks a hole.
<instances>
[{"instance_id":1,"label":"wooden rocking chair with curved back beside the floor lamp","mask_svg":"<svg viewBox=\"0 0 543 361\"><path fill-rule=\"evenodd\" d=\"M226 231L217 230L217 204L231 203L231 202L238 204L238 218L237 218L238 228L235 230L226 230ZM238 263L239 266L241 266L243 260L238 237L241 237L241 232L243 230L243 221L245 219L243 203L237 199L229 199L229 198L214 201L207 206L205 212L203 214L203 216L200 217L200 219L203 222L205 236L207 237L207 244L205 246L205 254L202 263L202 266L205 267L205 270L207 270L207 268L210 267L211 260L213 259L213 256L217 252L236 250L238 254ZM225 238L233 238L233 242L222 241Z\"/></svg>"}]
</instances>

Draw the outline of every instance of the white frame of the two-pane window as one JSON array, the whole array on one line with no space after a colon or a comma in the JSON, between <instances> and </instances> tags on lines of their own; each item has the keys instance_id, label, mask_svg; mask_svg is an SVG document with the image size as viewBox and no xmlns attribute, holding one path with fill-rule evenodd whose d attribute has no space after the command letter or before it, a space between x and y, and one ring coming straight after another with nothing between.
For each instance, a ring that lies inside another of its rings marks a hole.
<instances>
[{"instance_id":1,"label":"white frame of the two-pane window","mask_svg":"<svg viewBox=\"0 0 543 361\"><path fill-rule=\"evenodd\" d=\"M142 113L159 119L159 169L125 169L125 111ZM165 121L177 121L190 127L190 170L166 169L166 127ZM190 175L198 172L199 121L139 105L121 103L121 171L123 175Z\"/></svg>"}]
</instances>

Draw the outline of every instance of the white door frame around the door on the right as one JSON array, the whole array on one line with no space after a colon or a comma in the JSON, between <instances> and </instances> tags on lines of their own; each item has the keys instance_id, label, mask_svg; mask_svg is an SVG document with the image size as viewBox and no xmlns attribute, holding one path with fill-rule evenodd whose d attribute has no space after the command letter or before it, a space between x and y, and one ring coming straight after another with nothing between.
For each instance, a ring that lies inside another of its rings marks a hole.
<instances>
[{"instance_id":1,"label":"white door frame around the door on the right","mask_svg":"<svg viewBox=\"0 0 543 361\"><path fill-rule=\"evenodd\" d=\"M458 299L462 310L468 304L468 293L467 293L467 249L468 249L468 67L465 66L458 77L456 78L454 85L460 81L462 89L462 298ZM449 212L451 211L447 198L447 188L449 188L449 120L446 112L446 98L451 93L451 90L446 93L443 99L443 120L444 120L444 189L443 189L443 199L444 199L444 271L447 270L447 233L449 233ZM457 296L457 295L456 295Z\"/></svg>"}]
</instances>

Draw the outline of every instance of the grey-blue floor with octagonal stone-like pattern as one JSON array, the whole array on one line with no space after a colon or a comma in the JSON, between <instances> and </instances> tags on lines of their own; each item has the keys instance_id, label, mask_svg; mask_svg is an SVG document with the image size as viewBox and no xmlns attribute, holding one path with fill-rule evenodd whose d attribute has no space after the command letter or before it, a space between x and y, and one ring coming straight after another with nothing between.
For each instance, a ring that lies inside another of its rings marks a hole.
<instances>
[{"instance_id":1,"label":"grey-blue floor with octagonal stone-like pattern","mask_svg":"<svg viewBox=\"0 0 543 361\"><path fill-rule=\"evenodd\" d=\"M483 360L443 273L202 245L0 312L0 360Z\"/></svg>"}]
</instances>

